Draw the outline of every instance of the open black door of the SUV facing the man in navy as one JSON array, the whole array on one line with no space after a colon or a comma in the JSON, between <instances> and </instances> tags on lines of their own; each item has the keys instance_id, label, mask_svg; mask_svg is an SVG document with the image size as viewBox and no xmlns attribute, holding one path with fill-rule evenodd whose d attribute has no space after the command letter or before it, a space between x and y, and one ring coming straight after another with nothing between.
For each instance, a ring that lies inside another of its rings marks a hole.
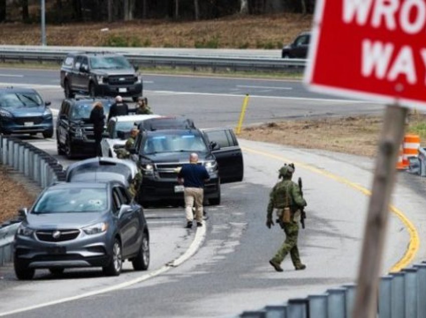
<instances>
[{"instance_id":1,"label":"open black door of the SUV facing the man in navy","mask_svg":"<svg viewBox=\"0 0 426 318\"><path fill-rule=\"evenodd\" d=\"M211 150L219 166L221 183L237 182L243 179L243 152L230 128L201 129L209 142L216 142L218 149Z\"/></svg>"}]
</instances>

